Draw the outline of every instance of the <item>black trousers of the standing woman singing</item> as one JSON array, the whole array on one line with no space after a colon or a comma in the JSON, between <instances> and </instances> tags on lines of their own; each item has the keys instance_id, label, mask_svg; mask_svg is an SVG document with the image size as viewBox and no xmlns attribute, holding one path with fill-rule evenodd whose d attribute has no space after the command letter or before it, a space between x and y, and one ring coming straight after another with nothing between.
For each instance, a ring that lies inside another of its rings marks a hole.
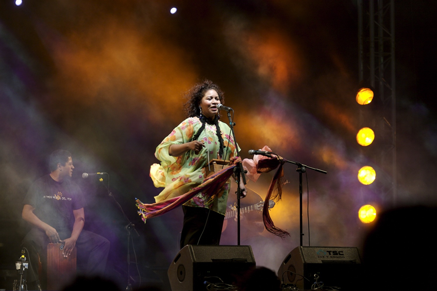
<instances>
[{"instance_id":1,"label":"black trousers of the standing woman singing","mask_svg":"<svg viewBox=\"0 0 437 291\"><path fill-rule=\"evenodd\" d=\"M181 233L181 249L187 244L220 243L224 215L203 207L182 206L182 209L184 226Z\"/></svg>"}]
</instances>

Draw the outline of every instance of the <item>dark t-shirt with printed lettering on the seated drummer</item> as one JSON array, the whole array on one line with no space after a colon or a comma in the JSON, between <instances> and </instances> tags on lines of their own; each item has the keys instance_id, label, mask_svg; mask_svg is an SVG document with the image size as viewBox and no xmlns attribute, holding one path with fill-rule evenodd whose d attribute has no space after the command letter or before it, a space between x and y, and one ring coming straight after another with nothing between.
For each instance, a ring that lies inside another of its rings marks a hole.
<instances>
[{"instance_id":1,"label":"dark t-shirt with printed lettering on the seated drummer","mask_svg":"<svg viewBox=\"0 0 437 291\"><path fill-rule=\"evenodd\" d=\"M32 184L23 204L33 206L39 219L60 232L73 229L73 210L86 206L86 201L76 183L69 179L56 182L46 175Z\"/></svg>"}]
</instances>

